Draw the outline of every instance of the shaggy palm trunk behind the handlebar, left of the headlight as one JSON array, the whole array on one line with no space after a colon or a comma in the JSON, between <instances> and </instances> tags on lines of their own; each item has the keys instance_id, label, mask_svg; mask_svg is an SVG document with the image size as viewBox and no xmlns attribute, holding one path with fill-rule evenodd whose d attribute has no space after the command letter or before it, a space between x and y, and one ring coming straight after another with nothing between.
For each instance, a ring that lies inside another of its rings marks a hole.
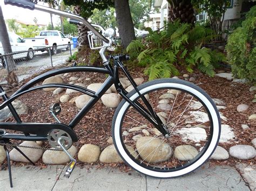
<instances>
[{"instance_id":1,"label":"shaggy palm trunk behind the handlebar, left of the headlight","mask_svg":"<svg viewBox=\"0 0 256 191\"><path fill-rule=\"evenodd\" d=\"M81 8L79 5L75 6L74 12L77 15L80 15ZM89 29L86 26L80 26L80 25L77 26L77 29L78 29L78 36L79 36L78 37L78 44L79 44L78 51L80 51L80 49L83 46L89 47L89 41L87 38Z\"/></svg>"}]
</instances>

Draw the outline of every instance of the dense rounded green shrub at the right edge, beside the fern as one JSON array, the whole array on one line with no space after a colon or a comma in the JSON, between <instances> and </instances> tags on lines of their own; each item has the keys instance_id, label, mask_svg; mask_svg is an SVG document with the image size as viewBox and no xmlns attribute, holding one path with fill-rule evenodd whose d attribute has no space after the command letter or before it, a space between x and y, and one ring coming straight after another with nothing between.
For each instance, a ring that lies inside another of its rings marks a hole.
<instances>
[{"instance_id":1,"label":"dense rounded green shrub at the right edge, beside the fern","mask_svg":"<svg viewBox=\"0 0 256 191\"><path fill-rule=\"evenodd\" d=\"M242 26L228 37L226 50L234 76L256 81L256 6L246 14Z\"/></svg>"}]
</instances>

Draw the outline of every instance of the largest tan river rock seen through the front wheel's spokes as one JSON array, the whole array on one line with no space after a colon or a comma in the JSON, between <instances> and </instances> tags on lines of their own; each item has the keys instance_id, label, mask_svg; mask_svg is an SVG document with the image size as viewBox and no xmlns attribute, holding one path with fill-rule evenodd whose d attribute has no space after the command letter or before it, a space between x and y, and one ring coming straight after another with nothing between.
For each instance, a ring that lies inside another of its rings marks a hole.
<instances>
[{"instance_id":1,"label":"largest tan river rock seen through the front wheel's spokes","mask_svg":"<svg viewBox=\"0 0 256 191\"><path fill-rule=\"evenodd\" d=\"M162 139L142 137L137 141L136 148L140 157L146 162L161 162L172 155L172 148Z\"/></svg>"}]
</instances>

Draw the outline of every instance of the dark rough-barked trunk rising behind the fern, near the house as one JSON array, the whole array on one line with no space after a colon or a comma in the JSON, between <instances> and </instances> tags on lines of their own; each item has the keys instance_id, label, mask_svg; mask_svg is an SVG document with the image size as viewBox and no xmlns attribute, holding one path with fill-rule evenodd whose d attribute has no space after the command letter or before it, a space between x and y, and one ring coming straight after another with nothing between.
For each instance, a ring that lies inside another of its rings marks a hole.
<instances>
[{"instance_id":1,"label":"dark rough-barked trunk rising behind the fern, near the house","mask_svg":"<svg viewBox=\"0 0 256 191\"><path fill-rule=\"evenodd\" d=\"M170 22L180 19L182 23L194 24L196 17L190 0L167 0L167 2L171 5L168 13Z\"/></svg>"}]
</instances>

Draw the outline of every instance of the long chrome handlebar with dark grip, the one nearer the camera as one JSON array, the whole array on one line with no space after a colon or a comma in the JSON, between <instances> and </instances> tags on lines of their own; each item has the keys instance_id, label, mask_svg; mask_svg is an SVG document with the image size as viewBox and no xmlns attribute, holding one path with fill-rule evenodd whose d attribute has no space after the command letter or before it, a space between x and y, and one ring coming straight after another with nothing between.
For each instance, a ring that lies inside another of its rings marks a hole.
<instances>
[{"instance_id":1,"label":"long chrome handlebar with dark grip, the one nearer the camera","mask_svg":"<svg viewBox=\"0 0 256 191\"><path fill-rule=\"evenodd\" d=\"M84 24L85 26L87 26L87 28L89 30L91 30L93 33L95 33L96 36L99 37L101 40L103 40L105 43L107 43L107 44L110 43L109 39L104 37L103 34L101 34L99 31L97 31L95 29L95 27L93 27L93 25L91 25L87 20L85 20L83 17L80 17L78 15L73 15L72 13L68 13L68 12L64 12L64 11L60 11L60 10L56 10L56 9L51 9L51 8L48 8L48 7L42 6L42 5L37 5L37 4L30 2L29 0L4 0L4 4L19 6L24 9L44 11L44 12L52 13L52 14L59 15L62 17L68 17L70 19L75 19L76 22L79 22L79 24L81 23L81 24Z\"/></svg>"}]
</instances>

